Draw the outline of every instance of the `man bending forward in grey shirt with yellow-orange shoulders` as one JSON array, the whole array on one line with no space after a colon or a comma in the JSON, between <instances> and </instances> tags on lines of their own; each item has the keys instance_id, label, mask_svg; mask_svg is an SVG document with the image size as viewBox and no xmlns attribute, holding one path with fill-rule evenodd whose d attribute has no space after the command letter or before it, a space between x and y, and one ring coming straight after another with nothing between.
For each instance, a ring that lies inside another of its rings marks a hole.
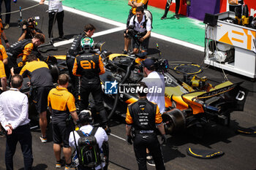
<instances>
[{"instance_id":1,"label":"man bending forward in grey shirt with yellow-orange shoulders","mask_svg":"<svg viewBox=\"0 0 256 170\"><path fill-rule=\"evenodd\" d=\"M44 61L38 61L37 56L30 54L27 56L25 66L20 71L20 75L23 77L29 77L30 82L28 85L33 89L31 91L31 98L34 101L34 105L39 113L39 126L41 128L42 136L40 136L41 142L47 142L46 128L47 128L47 97L50 89L53 86L53 78L50 74L50 69ZM11 70L12 74L13 69Z\"/></svg>"}]
</instances>

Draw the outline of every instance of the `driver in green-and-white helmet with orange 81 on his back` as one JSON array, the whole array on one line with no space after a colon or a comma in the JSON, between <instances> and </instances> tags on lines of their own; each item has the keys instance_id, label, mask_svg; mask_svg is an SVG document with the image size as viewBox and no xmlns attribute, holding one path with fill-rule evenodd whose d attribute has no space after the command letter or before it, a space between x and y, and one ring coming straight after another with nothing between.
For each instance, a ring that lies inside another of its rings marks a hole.
<instances>
[{"instance_id":1,"label":"driver in green-and-white helmet with orange 81 on his back","mask_svg":"<svg viewBox=\"0 0 256 170\"><path fill-rule=\"evenodd\" d=\"M99 54L94 53L94 40L89 36L84 37L80 42L83 47L83 53L75 58L73 74L81 77L80 81L80 111L89 109L89 95L94 98L94 103L99 112L101 124L107 134L110 134L108 128L107 112L102 100L102 89L99 75L105 73L105 67Z\"/></svg>"}]
</instances>

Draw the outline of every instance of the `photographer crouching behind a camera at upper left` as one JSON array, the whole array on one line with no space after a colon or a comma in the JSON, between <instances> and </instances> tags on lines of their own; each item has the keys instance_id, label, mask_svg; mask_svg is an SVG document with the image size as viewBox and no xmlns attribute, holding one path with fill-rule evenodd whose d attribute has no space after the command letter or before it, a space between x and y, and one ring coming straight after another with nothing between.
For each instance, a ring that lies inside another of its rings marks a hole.
<instances>
[{"instance_id":1,"label":"photographer crouching behind a camera at upper left","mask_svg":"<svg viewBox=\"0 0 256 170\"><path fill-rule=\"evenodd\" d=\"M22 33L18 41L23 39L33 39L36 34L42 34L42 31L37 28L37 24L34 18L23 20L20 23L20 27L22 27Z\"/></svg>"}]
</instances>

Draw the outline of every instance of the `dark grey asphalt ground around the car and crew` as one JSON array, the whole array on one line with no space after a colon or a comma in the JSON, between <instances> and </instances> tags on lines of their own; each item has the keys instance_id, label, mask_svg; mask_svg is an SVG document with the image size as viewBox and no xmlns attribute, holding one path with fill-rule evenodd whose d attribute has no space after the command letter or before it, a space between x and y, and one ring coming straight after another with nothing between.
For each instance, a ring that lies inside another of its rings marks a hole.
<instances>
[{"instance_id":1,"label":"dark grey asphalt ground around the car and crew","mask_svg":"<svg viewBox=\"0 0 256 170\"><path fill-rule=\"evenodd\" d=\"M17 4L12 3L12 10L18 9L18 6L25 8L31 7L34 4L37 3L29 0L18 1ZM47 9L48 6L43 5L22 12L23 18L40 16L41 19L39 20L38 28L42 29L46 35L48 35L48 15L45 12ZM6 34L10 43L16 42L18 36L20 35L21 30L16 26L18 18L20 18L18 13L12 14L11 27L6 30ZM97 32L116 28L116 26L107 23L101 23L97 20L82 17L71 12L65 12L64 34L71 38L72 35L79 34L83 30L83 26L86 23L92 23L94 26L96 26ZM57 33L58 31L55 27L53 36L57 37ZM120 53L121 50L123 50L124 45L122 35L123 31L117 31L113 34L97 36L94 38L94 41L105 41L106 43L104 45L104 49L110 50L113 53ZM154 37L151 37L149 44L150 57L158 57L156 43L159 44L159 49L162 52L162 58L167 58L169 61L189 61L199 64L203 61L202 52L198 52L197 50L166 42L165 40L157 39ZM44 53L43 55L64 55L67 53L69 46L70 44L59 46L58 51L51 51ZM256 85L255 82L251 82L248 78L241 77L238 74L232 74L230 72L226 72L226 74L228 79L232 82L244 81L243 86L250 90L246 99L244 112L233 112L231 114L230 127L208 124L205 128L200 129L200 133L197 131L197 129L188 129L187 131L183 131L175 136L167 136L167 146L162 147L166 169L256 169L255 136L245 136L236 133L236 130L240 127L255 127ZM174 75L181 78L181 75L179 74ZM222 82L224 80L222 71L219 69L214 69L213 67L204 69L200 76L203 75L206 75L210 82L213 84ZM138 169L133 148L131 145L128 145L127 142L124 141L124 139L126 139L124 119L121 117L114 117L111 121L111 130L112 132L109 136L109 169ZM38 129L34 129L34 131L32 131L34 169L54 169L55 158L52 149L53 142L42 144L39 141L39 135L40 133ZM50 128L48 139L50 140ZM203 150L223 151L225 152L225 155L212 159L193 158L187 155L187 148L189 147ZM5 169L4 151L5 138L0 138L0 170ZM18 170L23 169L23 155L20 151L19 145L17 146L14 157L14 167ZM148 169L154 169L154 167L148 166Z\"/></svg>"}]
</instances>

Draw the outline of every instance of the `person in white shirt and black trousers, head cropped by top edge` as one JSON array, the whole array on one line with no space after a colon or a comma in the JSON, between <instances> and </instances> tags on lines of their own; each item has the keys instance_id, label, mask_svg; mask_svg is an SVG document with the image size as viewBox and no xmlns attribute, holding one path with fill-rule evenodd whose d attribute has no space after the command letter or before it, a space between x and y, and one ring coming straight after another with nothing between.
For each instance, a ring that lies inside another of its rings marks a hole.
<instances>
[{"instance_id":1,"label":"person in white shirt and black trousers, head cropped by top edge","mask_svg":"<svg viewBox=\"0 0 256 170\"><path fill-rule=\"evenodd\" d=\"M44 4L44 2L45 0L41 0L39 4ZM55 23L56 19L58 22L59 39L66 39L63 32L64 9L62 7L61 0L48 0L48 6L49 6L48 34L49 34L50 41L53 38L53 24ZM55 15L56 15L56 18L54 18Z\"/></svg>"}]
</instances>

